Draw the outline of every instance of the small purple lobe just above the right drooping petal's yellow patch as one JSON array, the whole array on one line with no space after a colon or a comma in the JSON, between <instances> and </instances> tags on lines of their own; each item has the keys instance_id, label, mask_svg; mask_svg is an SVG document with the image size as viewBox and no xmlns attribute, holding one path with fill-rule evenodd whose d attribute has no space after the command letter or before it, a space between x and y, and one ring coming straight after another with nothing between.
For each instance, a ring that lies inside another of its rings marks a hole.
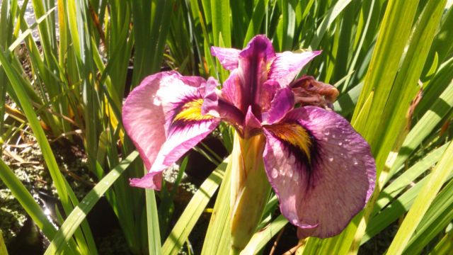
<instances>
[{"instance_id":1,"label":"small purple lobe just above the right drooping petal's yellow patch","mask_svg":"<svg viewBox=\"0 0 453 255\"><path fill-rule=\"evenodd\" d=\"M270 109L263 114L265 124L273 124L281 120L294 107L294 94L289 87L280 89L270 103Z\"/></svg>"}]
</instances>

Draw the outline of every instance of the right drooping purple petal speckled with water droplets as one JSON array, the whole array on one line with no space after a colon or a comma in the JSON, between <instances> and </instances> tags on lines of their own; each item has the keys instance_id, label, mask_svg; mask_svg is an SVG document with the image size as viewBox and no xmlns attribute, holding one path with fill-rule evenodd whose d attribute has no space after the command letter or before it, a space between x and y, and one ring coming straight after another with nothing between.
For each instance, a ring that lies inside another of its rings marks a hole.
<instances>
[{"instance_id":1,"label":"right drooping purple petal speckled with water droplets","mask_svg":"<svg viewBox=\"0 0 453 255\"><path fill-rule=\"evenodd\" d=\"M367 142L332 111L306 106L265 125L265 169L300 237L332 237L365 206L376 167Z\"/></svg>"}]
</instances>

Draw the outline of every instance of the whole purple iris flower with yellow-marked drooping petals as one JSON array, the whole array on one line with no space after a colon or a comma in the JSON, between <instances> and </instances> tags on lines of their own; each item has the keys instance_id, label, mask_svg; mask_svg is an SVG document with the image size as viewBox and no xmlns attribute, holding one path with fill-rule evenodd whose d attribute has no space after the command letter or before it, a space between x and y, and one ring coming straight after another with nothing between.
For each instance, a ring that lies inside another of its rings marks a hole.
<instances>
[{"instance_id":1,"label":"whole purple iris flower with yellow-marked drooping petals","mask_svg":"<svg viewBox=\"0 0 453 255\"><path fill-rule=\"evenodd\" d=\"M313 77L294 81L321 52L275 53L264 35L211 52L231 72L222 90L213 78L161 72L127 97L125 130L149 169L131 185L159 190L162 171L226 121L244 140L263 137L265 173L299 237L341 232L371 196L376 167L367 142L326 107L338 91Z\"/></svg>"}]
</instances>

